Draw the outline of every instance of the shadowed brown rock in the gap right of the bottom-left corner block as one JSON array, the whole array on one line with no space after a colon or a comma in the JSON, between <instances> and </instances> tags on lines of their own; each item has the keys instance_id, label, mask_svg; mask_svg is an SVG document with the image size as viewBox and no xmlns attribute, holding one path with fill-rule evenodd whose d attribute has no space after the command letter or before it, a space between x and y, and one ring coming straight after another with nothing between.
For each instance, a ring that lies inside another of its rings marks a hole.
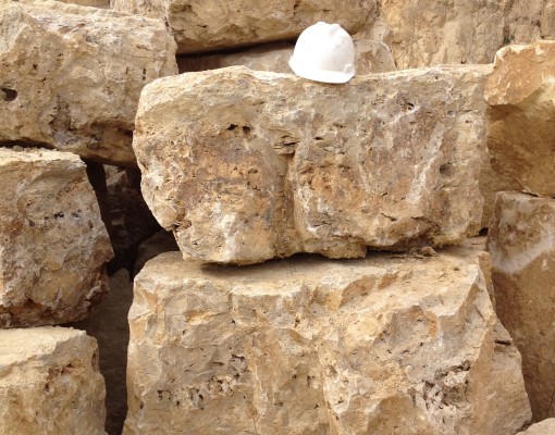
<instances>
[{"instance_id":1,"label":"shadowed brown rock in the gap right of the bottom-left corner block","mask_svg":"<svg viewBox=\"0 0 555 435\"><path fill-rule=\"evenodd\" d=\"M106 383L106 431L121 435L127 412L127 344L130 324L127 312L133 300L130 273L122 269L110 276L110 293L87 319L71 326L95 337L100 350L100 373Z\"/></svg>"}]
</instances>

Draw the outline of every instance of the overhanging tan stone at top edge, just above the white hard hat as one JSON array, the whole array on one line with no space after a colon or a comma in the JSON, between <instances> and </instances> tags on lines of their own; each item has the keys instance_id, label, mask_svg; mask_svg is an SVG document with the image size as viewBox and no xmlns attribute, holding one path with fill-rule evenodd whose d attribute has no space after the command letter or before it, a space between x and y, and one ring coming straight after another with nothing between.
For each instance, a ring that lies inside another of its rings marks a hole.
<instances>
[{"instance_id":1,"label":"overhanging tan stone at top edge, just above the white hard hat","mask_svg":"<svg viewBox=\"0 0 555 435\"><path fill-rule=\"evenodd\" d=\"M177 52L291 40L308 26L338 23L349 33L371 21L375 0L111 0L112 8L164 20Z\"/></svg>"}]
</instances>

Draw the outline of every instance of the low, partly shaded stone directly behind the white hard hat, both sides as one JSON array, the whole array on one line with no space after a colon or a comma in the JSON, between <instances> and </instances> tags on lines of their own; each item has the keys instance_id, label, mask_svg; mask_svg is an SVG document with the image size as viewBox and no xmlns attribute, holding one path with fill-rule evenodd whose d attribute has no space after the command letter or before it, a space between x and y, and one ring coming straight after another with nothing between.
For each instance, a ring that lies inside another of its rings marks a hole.
<instances>
[{"instance_id":1,"label":"low, partly shaded stone directly behind the white hard hat, both sides","mask_svg":"<svg viewBox=\"0 0 555 435\"><path fill-rule=\"evenodd\" d=\"M268 44L227 54L184 55L177 58L177 65L180 73L244 65L250 70L292 74L288 62L294 48L292 44ZM355 38L355 50L357 75L396 70L391 51L382 41Z\"/></svg>"}]
</instances>

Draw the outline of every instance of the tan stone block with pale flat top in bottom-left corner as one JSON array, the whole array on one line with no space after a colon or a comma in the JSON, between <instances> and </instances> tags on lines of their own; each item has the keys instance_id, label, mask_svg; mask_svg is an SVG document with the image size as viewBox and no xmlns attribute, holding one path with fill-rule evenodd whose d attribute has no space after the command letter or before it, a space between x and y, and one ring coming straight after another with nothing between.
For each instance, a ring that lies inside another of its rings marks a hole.
<instances>
[{"instance_id":1,"label":"tan stone block with pale flat top in bottom-left corner","mask_svg":"<svg viewBox=\"0 0 555 435\"><path fill-rule=\"evenodd\" d=\"M104 435L98 348L62 327L0 331L0 433Z\"/></svg>"}]
</instances>

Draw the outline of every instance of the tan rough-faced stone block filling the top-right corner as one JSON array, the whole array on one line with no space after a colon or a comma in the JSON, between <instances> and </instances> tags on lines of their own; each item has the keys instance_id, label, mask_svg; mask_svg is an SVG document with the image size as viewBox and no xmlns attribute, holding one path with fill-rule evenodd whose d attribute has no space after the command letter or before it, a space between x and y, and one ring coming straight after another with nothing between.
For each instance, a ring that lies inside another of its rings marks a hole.
<instances>
[{"instance_id":1,"label":"tan rough-faced stone block filling the top-right corner","mask_svg":"<svg viewBox=\"0 0 555 435\"><path fill-rule=\"evenodd\" d=\"M491 63L504 45L553 39L554 17L553 0L382 0L380 16L368 27L385 27L404 70Z\"/></svg>"}]
</instances>

